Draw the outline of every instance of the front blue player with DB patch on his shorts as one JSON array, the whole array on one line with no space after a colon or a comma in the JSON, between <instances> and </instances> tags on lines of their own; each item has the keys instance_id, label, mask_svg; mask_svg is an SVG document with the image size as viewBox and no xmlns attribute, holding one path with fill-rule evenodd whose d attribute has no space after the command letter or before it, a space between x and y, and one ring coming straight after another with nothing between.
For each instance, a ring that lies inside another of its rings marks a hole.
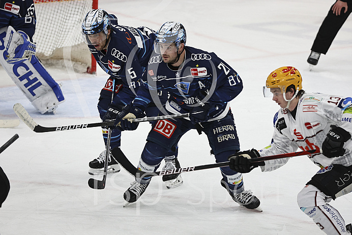
<instances>
[{"instance_id":1,"label":"front blue player with DB patch on his shorts","mask_svg":"<svg viewBox=\"0 0 352 235\"><path fill-rule=\"evenodd\" d=\"M186 30L179 22L166 22L156 33L155 53L143 75L143 83L133 103L115 120L122 128L134 129L158 90L170 94L164 114L189 113L189 118L159 120L152 126L138 168L154 172L169 149L190 129L205 133L216 162L226 162L229 154L239 151L236 126L229 101L242 91L240 76L214 53L186 44ZM261 211L260 201L244 189L242 174L221 168L221 185L232 199L251 210ZM136 178L125 192L128 203L135 202L148 187L151 177Z\"/></svg>"}]
</instances>

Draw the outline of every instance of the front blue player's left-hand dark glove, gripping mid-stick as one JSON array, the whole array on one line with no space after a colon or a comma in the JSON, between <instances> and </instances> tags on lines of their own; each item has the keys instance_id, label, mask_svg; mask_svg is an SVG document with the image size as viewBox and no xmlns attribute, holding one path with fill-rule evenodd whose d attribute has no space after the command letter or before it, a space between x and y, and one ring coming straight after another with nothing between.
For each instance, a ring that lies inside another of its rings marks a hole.
<instances>
[{"instance_id":1,"label":"front blue player's left-hand dark glove, gripping mid-stick","mask_svg":"<svg viewBox=\"0 0 352 235\"><path fill-rule=\"evenodd\" d=\"M132 102L126 105L122 111L116 116L115 126L118 130L135 130L139 122L133 122L132 119L145 117L144 112L133 106Z\"/></svg>"}]
</instances>

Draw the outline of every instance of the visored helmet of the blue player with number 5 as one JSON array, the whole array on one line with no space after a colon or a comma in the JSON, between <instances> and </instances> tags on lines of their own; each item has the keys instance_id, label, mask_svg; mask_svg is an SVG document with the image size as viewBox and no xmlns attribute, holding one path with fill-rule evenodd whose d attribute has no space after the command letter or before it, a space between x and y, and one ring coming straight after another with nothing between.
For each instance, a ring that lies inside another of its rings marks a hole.
<instances>
[{"instance_id":1,"label":"visored helmet of the blue player with number 5","mask_svg":"<svg viewBox=\"0 0 352 235\"><path fill-rule=\"evenodd\" d=\"M103 9L88 12L82 22L82 37L86 44L94 45L107 39L109 15Z\"/></svg>"}]
</instances>

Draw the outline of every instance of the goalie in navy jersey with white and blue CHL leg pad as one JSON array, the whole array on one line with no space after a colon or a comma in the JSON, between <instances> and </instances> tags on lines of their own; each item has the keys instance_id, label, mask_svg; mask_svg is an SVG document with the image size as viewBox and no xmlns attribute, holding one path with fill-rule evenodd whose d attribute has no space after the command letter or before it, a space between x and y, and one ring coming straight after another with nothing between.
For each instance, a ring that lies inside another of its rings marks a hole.
<instances>
[{"instance_id":1,"label":"goalie in navy jersey with white and blue CHL leg pad","mask_svg":"<svg viewBox=\"0 0 352 235\"><path fill-rule=\"evenodd\" d=\"M35 56L35 29L33 0L0 1L0 63L40 113L52 113L65 98Z\"/></svg>"}]
</instances>

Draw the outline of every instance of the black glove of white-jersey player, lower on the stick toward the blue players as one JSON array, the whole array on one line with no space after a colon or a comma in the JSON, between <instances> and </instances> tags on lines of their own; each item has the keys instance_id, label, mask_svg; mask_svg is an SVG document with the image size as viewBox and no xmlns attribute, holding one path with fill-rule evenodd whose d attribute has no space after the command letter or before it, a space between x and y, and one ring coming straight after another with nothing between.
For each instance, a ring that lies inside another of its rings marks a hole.
<instances>
[{"instance_id":1,"label":"black glove of white-jersey player, lower on the stick toward the blue players","mask_svg":"<svg viewBox=\"0 0 352 235\"><path fill-rule=\"evenodd\" d=\"M248 173L258 166L265 166L264 162L251 163L249 160L252 158L259 158L260 154L257 150L252 148L251 150L237 152L228 157L230 161L231 170Z\"/></svg>"}]
</instances>

